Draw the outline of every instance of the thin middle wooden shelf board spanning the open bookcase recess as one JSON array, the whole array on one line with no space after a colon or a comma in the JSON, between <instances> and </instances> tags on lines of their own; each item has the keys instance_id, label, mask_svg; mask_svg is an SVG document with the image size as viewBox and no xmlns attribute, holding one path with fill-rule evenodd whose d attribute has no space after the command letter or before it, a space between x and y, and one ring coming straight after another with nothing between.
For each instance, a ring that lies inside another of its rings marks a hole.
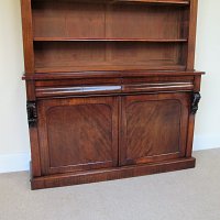
<instances>
[{"instance_id":1,"label":"thin middle wooden shelf board spanning the open bookcase recess","mask_svg":"<svg viewBox=\"0 0 220 220\"><path fill-rule=\"evenodd\" d=\"M187 42L187 38L74 38L74 37L34 37L34 42Z\"/></svg>"}]
</instances>

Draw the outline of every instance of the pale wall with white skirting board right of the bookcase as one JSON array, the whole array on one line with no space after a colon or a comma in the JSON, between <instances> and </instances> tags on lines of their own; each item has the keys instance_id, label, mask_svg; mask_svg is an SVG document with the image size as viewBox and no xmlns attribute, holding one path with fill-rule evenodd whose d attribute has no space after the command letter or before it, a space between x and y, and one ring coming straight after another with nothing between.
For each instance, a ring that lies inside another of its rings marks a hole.
<instances>
[{"instance_id":1,"label":"pale wall with white skirting board right of the bookcase","mask_svg":"<svg viewBox=\"0 0 220 220\"><path fill-rule=\"evenodd\" d=\"M220 147L220 1L199 0L196 69L207 73L196 120L195 150Z\"/></svg>"}]
</instances>

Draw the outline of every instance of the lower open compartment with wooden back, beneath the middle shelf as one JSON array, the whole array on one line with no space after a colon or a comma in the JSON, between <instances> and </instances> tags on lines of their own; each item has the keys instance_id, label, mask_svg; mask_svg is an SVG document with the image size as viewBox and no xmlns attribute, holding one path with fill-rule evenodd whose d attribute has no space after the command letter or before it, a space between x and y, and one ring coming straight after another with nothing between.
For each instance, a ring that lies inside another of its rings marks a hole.
<instances>
[{"instance_id":1,"label":"lower open compartment with wooden back, beneath the middle shelf","mask_svg":"<svg viewBox=\"0 0 220 220\"><path fill-rule=\"evenodd\" d=\"M54 72L184 68L185 43L35 42L35 68ZM66 69L66 70L65 70Z\"/></svg>"}]
</instances>

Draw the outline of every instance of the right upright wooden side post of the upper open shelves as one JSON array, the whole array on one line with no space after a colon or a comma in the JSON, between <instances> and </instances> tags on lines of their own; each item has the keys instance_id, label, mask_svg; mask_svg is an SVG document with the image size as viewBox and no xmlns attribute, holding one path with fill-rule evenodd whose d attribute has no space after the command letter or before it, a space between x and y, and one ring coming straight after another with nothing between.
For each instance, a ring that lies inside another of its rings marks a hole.
<instances>
[{"instance_id":1,"label":"right upright wooden side post of the upper open shelves","mask_svg":"<svg viewBox=\"0 0 220 220\"><path fill-rule=\"evenodd\" d=\"M198 0L190 1L187 70L194 69Z\"/></svg>"}]
</instances>

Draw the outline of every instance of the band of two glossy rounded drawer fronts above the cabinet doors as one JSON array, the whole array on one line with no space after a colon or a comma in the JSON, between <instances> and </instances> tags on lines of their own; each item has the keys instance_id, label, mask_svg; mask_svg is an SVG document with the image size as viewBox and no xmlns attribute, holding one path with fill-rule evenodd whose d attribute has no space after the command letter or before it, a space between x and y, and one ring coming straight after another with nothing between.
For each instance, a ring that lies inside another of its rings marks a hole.
<instances>
[{"instance_id":1,"label":"band of two glossy rounded drawer fronts above the cabinet doors","mask_svg":"<svg viewBox=\"0 0 220 220\"><path fill-rule=\"evenodd\" d=\"M194 77L142 77L117 79L48 80L35 82L36 97L120 95L136 92L190 91Z\"/></svg>"}]
</instances>

